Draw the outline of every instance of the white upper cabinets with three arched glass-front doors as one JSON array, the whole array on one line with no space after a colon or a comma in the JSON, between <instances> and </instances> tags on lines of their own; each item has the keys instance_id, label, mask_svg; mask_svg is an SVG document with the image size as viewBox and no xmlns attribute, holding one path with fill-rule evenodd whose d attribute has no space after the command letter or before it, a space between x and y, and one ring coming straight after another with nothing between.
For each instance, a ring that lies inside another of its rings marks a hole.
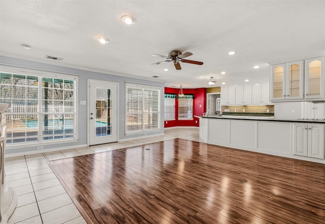
<instances>
[{"instance_id":1,"label":"white upper cabinets with three arched glass-front doors","mask_svg":"<svg viewBox=\"0 0 325 224\"><path fill-rule=\"evenodd\" d=\"M271 66L271 101L325 100L325 57Z\"/></svg>"}]
</instances>

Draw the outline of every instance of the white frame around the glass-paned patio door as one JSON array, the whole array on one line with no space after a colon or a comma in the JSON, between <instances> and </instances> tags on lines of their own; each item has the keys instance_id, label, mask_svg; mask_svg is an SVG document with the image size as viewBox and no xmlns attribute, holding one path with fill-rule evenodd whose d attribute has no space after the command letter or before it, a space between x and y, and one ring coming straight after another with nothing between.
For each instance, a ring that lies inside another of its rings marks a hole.
<instances>
[{"instance_id":1,"label":"white frame around the glass-paned patio door","mask_svg":"<svg viewBox=\"0 0 325 224\"><path fill-rule=\"evenodd\" d=\"M117 141L119 141L119 83L115 82L109 82L109 81L103 81L103 80L93 80L93 79L87 79L87 146L90 145L90 82L105 82L109 85L116 85L117 87L117 108L116 108L116 119L117 119L117 125L116 125L116 131L117 131ZM80 120L79 120L80 121Z\"/></svg>"}]
</instances>

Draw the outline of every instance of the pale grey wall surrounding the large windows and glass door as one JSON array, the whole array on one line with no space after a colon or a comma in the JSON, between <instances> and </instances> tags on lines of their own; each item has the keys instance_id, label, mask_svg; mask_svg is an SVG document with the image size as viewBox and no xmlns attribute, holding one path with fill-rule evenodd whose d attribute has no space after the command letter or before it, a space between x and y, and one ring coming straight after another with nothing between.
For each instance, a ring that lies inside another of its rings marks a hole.
<instances>
[{"instance_id":1,"label":"pale grey wall surrounding the large windows and glass door","mask_svg":"<svg viewBox=\"0 0 325 224\"><path fill-rule=\"evenodd\" d=\"M160 131L146 133L147 136L149 135L158 135L164 133L164 92L165 86L163 82L155 82L143 79L136 79L136 78L129 78L129 77L122 77L116 76L109 73L101 73L101 72L94 72L88 70L81 70L76 68L69 68L69 67L62 67L57 65L39 63L39 62L32 62L17 58L5 57L0 56L0 65L6 66L14 66L14 67L26 67L30 69L41 69L51 72L61 72L61 73L70 73L70 74L78 74L79 75L79 86L78 89L78 99L77 103L80 100L87 100L87 79L94 79L94 80L103 80L109 82L116 82L119 83L119 121L118 121L118 129L119 129L119 139L127 139L127 138L137 138L143 137L144 134L136 134L136 135L125 135L125 82L128 83L137 83L137 84L144 84L144 85L153 85L161 87L161 97L160 97ZM141 74L139 74L141 76ZM49 150L51 148L73 148L77 145L86 145L87 144L87 105L79 105L78 113L78 135L79 139L76 142L71 143L61 143L52 145L44 145L44 150ZM36 147L15 147L15 148L6 148L6 154L20 154L24 152L34 151Z\"/></svg>"}]
</instances>

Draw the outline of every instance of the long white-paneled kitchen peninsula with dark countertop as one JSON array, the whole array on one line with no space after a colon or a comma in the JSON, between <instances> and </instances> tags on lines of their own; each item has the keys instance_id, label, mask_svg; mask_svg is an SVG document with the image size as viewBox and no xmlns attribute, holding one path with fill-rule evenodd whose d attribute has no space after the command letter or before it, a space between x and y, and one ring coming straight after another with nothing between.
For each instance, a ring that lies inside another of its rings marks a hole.
<instances>
[{"instance_id":1,"label":"long white-paneled kitchen peninsula with dark countertop","mask_svg":"<svg viewBox=\"0 0 325 224\"><path fill-rule=\"evenodd\" d=\"M324 120L200 117L200 137L206 143L322 164L324 129Z\"/></svg>"}]
</instances>

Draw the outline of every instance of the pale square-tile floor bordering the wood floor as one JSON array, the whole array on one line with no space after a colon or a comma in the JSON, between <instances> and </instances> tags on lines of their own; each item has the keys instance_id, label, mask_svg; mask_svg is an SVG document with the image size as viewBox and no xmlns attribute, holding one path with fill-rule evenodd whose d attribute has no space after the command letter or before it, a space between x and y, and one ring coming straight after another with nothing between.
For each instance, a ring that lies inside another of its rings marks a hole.
<instances>
[{"instance_id":1,"label":"pale square-tile floor bordering the wood floor","mask_svg":"<svg viewBox=\"0 0 325 224\"><path fill-rule=\"evenodd\" d=\"M7 158L6 180L18 196L8 223L86 223L47 161L117 150L174 138L202 141L198 127L165 129L165 134L131 141Z\"/></svg>"}]
</instances>

